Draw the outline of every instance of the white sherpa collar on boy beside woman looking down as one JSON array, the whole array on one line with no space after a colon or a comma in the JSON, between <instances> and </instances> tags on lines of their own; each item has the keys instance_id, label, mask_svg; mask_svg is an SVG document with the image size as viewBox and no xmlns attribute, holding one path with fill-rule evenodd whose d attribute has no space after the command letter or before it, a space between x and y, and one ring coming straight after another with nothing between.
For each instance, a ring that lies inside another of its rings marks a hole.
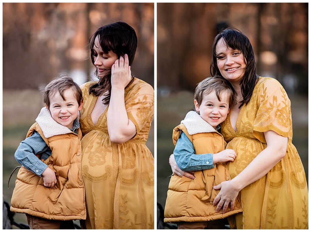
<instances>
[{"instance_id":1,"label":"white sherpa collar on boy beside woman looking down","mask_svg":"<svg viewBox=\"0 0 311 232\"><path fill-rule=\"evenodd\" d=\"M50 138L54 135L68 134L72 131L68 127L60 125L51 116L50 111L43 107L36 118L36 122L39 124L41 130L43 131L45 138Z\"/></svg>"}]
</instances>

